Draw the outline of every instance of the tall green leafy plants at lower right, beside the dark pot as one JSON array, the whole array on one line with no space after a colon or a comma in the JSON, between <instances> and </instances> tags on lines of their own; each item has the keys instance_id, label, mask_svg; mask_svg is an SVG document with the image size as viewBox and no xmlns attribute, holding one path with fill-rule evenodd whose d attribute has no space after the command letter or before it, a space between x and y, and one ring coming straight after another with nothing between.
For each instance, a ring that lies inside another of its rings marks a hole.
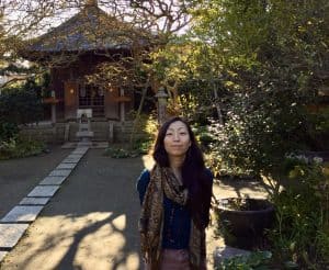
<instances>
[{"instance_id":1,"label":"tall green leafy plants at lower right, beside the dark pot","mask_svg":"<svg viewBox=\"0 0 329 270\"><path fill-rule=\"evenodd\" d=\"M274 257L300 268L320 268L329 263L329 179L319 164L305 161L295 164L288 177L286 189L273 198Z\"/></svg>"}]
</instances>

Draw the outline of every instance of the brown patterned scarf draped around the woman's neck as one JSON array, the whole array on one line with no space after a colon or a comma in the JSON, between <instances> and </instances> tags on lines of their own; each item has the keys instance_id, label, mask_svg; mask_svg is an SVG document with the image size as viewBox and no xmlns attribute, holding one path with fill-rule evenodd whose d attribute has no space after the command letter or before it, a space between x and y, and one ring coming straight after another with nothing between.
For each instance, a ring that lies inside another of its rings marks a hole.
<instances>
[{"instance_id":1,"label":"brown patterned scarf draped around the woman's neck","mask_svg":"<svg viewBox=\"0 0 329 270\"><path fill-rule=\"evenodd\" d=\"M180 189L180 182L170 168L161 168L157 165L150 172L150 182L145 193L139 220L141 255L152 270L158 270L160 263L163 192L173 202L180 205L186 204L188 190ZM191 268L202 269L206 255L205 230L197 228L193 220L189 245Z\"/></svg>"}]
</instances>

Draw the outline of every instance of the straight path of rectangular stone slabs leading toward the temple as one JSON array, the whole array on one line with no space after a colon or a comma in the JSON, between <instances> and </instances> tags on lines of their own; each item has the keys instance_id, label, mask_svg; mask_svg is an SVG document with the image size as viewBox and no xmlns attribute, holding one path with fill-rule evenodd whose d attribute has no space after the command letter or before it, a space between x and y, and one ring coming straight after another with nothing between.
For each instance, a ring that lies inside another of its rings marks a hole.
<instances>
[{"instance_id":1,"label":"straight path of rectangular stone slabs leading toward the temple","mask_svg":"<svg viewBox=\"0 0 329 270\"><path fill-rule=\"evenodd\" d=\"M0 220L0 261L18 244L29 225L69 177L88 147L76 148L48 177L43 179L19 205Z\"/></svg>"}]
</instances>

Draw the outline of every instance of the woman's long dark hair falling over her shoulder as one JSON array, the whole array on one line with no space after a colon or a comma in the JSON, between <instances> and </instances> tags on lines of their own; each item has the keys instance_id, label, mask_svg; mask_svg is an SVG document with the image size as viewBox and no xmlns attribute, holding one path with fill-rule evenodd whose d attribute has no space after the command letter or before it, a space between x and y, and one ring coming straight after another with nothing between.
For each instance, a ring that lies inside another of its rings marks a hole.
<instances>
[{"instance_id":1,"label":"woman's long dark hair falling over her shoulder","mask_svg":"<svg viewBox=\"0 0 329 270\"><path fill-rule=\"evenodd\" d=\"M191 146L182 165L182 180L189 191L188 209L196 226L205 228L209 223L209 207L212 200L212 175L205 168L203 154L197 145L194 133L189 123L181 117L172 117L159 130L155 148L154 159L161 167L169 167L169 157L164 149L167 130L173 123L180 121L188 127Z\"/></svg>"}]
</instances>

